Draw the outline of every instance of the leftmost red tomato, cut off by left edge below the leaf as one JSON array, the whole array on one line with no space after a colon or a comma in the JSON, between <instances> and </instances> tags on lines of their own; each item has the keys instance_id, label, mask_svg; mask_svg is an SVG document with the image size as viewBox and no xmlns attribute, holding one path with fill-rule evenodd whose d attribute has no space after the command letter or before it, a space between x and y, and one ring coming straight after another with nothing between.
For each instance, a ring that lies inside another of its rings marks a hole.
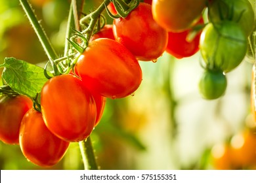
<instances>
[{"instance_id":1,"label":"leftmost red tomato, cut off by left edge below the leaf","mask_svg":"<svg viewBox=\"0 0 256 183\"><path fill-rule=\"evenodd\" d=\"M33 107L32 100L24 95L0 98L0 140L18 144L20 123L26 112Z\"/></svg>"}]
</instances>

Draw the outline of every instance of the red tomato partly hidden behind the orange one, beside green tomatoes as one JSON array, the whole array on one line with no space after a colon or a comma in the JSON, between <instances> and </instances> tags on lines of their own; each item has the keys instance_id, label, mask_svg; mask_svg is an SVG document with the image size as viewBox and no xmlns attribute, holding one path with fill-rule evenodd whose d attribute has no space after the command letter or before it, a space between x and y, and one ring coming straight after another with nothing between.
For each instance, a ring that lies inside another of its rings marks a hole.
<instances>
[{"instance_id":1,"label":"red tomato partly hidden behind the orange one, beside green tomatoes","mask_svg":"<svg viewBox=\"0 0 256 183\"><path fill-rule=\"evenodd\" d=\"M200 20L196 23L196 25L203 24L203 18L201 17ZM200 31L193 40L188 41L188 34L192 31L192 29L188 29L186 31L182 31L180 33L173 33L169 32L168 35L168 44L166 51L175 56L175 58L185 58L190 57L199 50L199 42L200 42L200 35L202 31Z\"/></svg>"}]
</instances>

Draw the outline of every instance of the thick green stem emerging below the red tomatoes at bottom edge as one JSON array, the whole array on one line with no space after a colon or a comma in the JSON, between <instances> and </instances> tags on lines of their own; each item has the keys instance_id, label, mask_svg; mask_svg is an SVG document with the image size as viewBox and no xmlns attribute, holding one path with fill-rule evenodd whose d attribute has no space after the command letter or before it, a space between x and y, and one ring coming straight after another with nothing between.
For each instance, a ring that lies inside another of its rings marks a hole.
<instances>
[{"instance_id":1,"label":"thick green stem emerging below the red tomatoes at bottom edge","mask_svg":"<svg viewBox=\"0 0 256 183\"><path fill-rule=\"evenodd\" d=\"M85 139L85 141L79 142L79 147L81 150L85 170L98 170L95 153L93 151L93 145L91 143L91 137L88 137Z\"/></svg>"}]
</instances>

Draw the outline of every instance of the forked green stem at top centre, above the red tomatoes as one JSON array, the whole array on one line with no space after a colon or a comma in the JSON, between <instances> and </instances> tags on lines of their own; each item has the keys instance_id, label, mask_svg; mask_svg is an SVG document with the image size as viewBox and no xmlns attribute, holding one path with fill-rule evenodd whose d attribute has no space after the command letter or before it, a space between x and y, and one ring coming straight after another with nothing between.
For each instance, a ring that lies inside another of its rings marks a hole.
<instances>
[{"instance_id":1,"label":"forked green stem at top centre, above the red tomatoes","mask_svg":"<svg viewBox=\"0 0 256 183\"><path fill-rule=\"evenodd\" d=\"M105 10L105 5L109 5L110 0L104 0L103 3L94 11L88 14L87 16L81 18L80 24L84 24L87 20L90 19L90 23L88 27L82 32L85 33L85 37L87 40L90 40L93 35L93 30L95 29L95 25L98 22L98 18L100 18L100 14Z\"/></svg>"}]
</instances>

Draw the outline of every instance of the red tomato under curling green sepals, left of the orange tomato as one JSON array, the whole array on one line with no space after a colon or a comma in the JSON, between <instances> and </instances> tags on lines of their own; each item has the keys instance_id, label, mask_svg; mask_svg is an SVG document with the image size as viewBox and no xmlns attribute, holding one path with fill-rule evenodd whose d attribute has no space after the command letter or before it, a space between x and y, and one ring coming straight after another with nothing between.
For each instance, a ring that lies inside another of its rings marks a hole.
<instances>
[{"instance_id":1,"label":"red tomato under curling green sepals, left of the orange tomato","mask_svg":"<svg viewBox=\"0 0 256 183\"><path fill-rule=\"evenodd\" d=\"M165 51L168 33L152 17L151 5L140 3L126 18L113 23L116 41L141 61L158 59Z\"/></svg>"}]
</instances>

